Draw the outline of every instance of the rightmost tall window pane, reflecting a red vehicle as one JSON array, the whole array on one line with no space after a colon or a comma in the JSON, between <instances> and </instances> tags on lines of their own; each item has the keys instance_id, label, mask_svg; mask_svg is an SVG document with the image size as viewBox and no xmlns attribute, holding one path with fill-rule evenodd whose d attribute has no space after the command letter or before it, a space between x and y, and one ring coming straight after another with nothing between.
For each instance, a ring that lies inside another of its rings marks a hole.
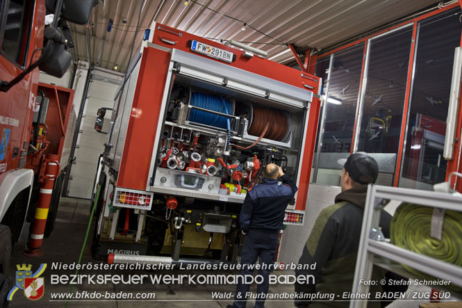
<instances>
[{"instance_id":1,"label":"rightmost tall window pane, reflecting a red vehicle","mask_svg":"<svg viewBox=\"0 0 462 308\"><path fill-rule=\"evenodd\" d=\"M454 49L461 36L460 16L461 10L456 8L418 23L401 187L432 190L433 184L445 181L443 147Z\"/></svg>"}]
</instances>

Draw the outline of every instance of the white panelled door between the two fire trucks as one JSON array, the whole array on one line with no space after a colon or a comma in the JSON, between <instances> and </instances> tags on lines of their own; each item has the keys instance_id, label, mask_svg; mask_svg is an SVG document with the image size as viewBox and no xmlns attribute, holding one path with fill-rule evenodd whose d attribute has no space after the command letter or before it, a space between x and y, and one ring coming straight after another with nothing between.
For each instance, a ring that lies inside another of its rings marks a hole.
<instances>
[{"instance_id":1,"label":"white panelled door between the two fire trucks","mask_svg":"<svg viewBox=\"0 0 462 308\"><path fill-rule=\"evenodd\" d=\"M106 133L99 133L94 130L97 110L102 107L113 108L113 99L117 88L119 88L118 84L104 81L104 79L108 78L117 81L122 80L120 76L113 75L108 77L108 73L97 71L91 84L90 95L83 110L81 132L79 131L76 143L77 147L74 154L76 161L72 165L66 191L70 197L91 198L97 160L99 154L104 151L104 143L106 143L107 139ZM103 131L108 131L109 122L110 111L106 112Z\"/></svg>"}]
</instances>

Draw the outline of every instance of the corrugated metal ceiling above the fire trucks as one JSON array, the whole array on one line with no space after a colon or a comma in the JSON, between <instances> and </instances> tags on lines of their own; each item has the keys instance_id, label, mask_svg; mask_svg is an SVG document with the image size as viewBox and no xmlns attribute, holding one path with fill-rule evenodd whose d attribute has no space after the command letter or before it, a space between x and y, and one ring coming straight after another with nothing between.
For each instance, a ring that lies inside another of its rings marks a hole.
<instances>
[{"instance_id":1,"label":"corrugated metal ceiling above the fire trucks","mask_svg":"<svg viewBox=\"0 0 462 308\"><path fill-rule=\"evenodd\" d=\"M100 0L88 25L70 24L75 45L71 52L74 60L88 61L88 27L92 64L96 64L104 42L98 66L113 70L117 65L117 72L125 72L133 38L134 50L138 50L145 29L154 20L204 38L245 42L267 51L270 60L287 64L293 55L286 43L299 50L325 49L438 2L191 0L185 6L184 0ZM107 33L109 19L114 24ZM242 31L244 22L247 27Z\"/></svg>"}]
</instances>

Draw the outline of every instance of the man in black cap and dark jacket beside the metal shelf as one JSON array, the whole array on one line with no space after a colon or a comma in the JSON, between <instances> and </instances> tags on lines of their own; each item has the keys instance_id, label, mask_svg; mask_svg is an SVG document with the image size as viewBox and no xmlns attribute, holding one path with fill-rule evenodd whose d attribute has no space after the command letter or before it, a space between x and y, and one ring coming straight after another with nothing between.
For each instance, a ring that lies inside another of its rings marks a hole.
<instances>
[{"instance_id":1,"label":"man in black cap and dark jacket beside the metal shelf","mask_svg":"<svg viewBox=\"0 0 462 308\"><path fill-rule=\"evenodd\" d=\"M295 300L296 307L349 307L349 298L344 292L351 292L356 267L356 257L361 236L365 198L368 184L373 184L379 175L379 165L370 156L355 153L347 160L338 161L343 165L340 178L342 192L336 196L336 203L322 210L313 230L306 241L299 264L316 264L313 270L296 270L297 275L313 275L314 284L295 284L296 293L335 294L331 300ZM380 226L383 235L390 237L390 214L381 211ZM384 271L374 268L372 280L379 281ZM393 273L386 274L389 279L401 279ZM405 287L406 289L406 287ZM404 289L404 291L406 291ZM371 294L381 291L380 286L370 286ZM398 291L386 289L383 291ZM402 291L402 290L399 290ZM329 296L327 296L329 298ZM333 300L332 300L333 299ZM344 301L342 301L344 300ZM368 307L379 306L371 302Z\"/></svg>"}]
</instances>

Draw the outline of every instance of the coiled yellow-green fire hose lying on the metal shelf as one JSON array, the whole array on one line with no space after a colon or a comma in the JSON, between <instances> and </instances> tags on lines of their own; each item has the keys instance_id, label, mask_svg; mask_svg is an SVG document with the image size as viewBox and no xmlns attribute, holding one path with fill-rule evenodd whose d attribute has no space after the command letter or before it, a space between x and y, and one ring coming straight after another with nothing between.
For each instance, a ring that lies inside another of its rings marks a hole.
<instances>
[{"instance_id":1,"label":"coiled yellow-green fire hose lying on the metal shelf","mask_svg":"<svg viewBox=\"0 0 462 308\"><path fill-rule=\"evenodd\" d=\"M462 266L462 213L445 212L441 241L430 236L432 214L433 208L429 206L409 203L399 205L391 220L391 243L418 254ZM409 266L404 268L416 275L434 279Z\"/></svg>"}]
</instances>

